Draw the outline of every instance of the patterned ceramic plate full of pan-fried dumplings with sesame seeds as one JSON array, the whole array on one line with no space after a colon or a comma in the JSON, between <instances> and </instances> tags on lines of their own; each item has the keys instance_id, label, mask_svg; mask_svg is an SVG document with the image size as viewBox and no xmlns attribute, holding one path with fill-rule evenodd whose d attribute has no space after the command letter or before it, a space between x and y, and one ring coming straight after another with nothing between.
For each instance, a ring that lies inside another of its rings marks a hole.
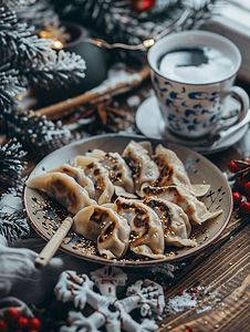
<instances>
[{"instance_id":1,"label":"patterned ceramic plate full of pan-fried dumplings with sesame seeds","mask_svg":"<svg viewBox=\"0 0 250 332\"><path fill-rule=\"evenodd\" d=\"M232 195L206 157L166 141L107 134L73 142L29 175L23 208L50 240L66 216L60 249L93 262L145 267L185 259L226 229Z\"/></svg>"}]
</instances>

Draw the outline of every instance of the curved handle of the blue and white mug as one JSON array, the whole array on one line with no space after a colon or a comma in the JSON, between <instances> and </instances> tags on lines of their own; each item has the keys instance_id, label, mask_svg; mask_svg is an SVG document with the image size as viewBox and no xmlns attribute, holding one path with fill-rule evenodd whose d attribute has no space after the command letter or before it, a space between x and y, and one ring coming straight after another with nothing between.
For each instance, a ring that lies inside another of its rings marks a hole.
<instances>
[{"instance_id":1,"label":"curved handle of the blue and white mug","mask_svg":"<svg viewBox=\"0 0 250 332\"><path fill-rule=\"evenodd\" d=\"M236 121L229 125L223 125L222 123L212 132L212 135L218 134L218 132L220 132L221 129L225 131L229 127L232 127L233 125L240 123L247 115L248 113L248 108L249 108L249 95L247 94L247 92L237 85L231 86L228 91L222 93L222 96L226 97L228 95L233 96L236 100L239 101L240 103L240 112L236 118Z\"/></svg>"}]
</instances>

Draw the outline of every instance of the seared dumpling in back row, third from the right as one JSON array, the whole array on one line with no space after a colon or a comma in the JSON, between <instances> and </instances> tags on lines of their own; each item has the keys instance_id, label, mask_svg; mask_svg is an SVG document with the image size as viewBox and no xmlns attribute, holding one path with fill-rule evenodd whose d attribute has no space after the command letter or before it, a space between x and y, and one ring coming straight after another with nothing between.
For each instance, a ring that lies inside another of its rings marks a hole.
<instances>
[{"instance_id":1,"label":"seared dumpling in back row, third from the right","mask_svg":"<svg viewBox=\"0 0 250 332\"><path fill-rule=\"evenodd\" d=\"M132 172L118 153L105 153L95 148L86 156L98 159L98 163L108 170L108 176L113 185L123 187L127 193L134 193Z\"/></svg>"}]
</instances>

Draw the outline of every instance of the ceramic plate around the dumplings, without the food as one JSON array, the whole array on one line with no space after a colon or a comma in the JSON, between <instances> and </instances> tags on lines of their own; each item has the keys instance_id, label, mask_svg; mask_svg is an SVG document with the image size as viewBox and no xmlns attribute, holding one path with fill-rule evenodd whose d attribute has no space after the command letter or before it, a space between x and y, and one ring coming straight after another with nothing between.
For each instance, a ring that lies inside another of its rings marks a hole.
<instances>
[{"instance_id":1,"label":"ceramic plate around the dumplings, without the food","mask_svg":"<svg viewBox=\"0 0 250 332\"><path fill-rule=\"evenodd\" d=\"M138 260L137 257L135 260L132 257L125 257L125 259L123 258L121 260L113 261L102 258L96 253L86 255L81 250L84 238L71 230L60 248L70 255L74 255L93 262L126 267L145 267L156 263L173 262L178 259L185 259L190 255L197 253L207 248L221 235L230 220L232 212L231 189L222 173L211 162L186 147L167 143L166 141L146 138L144 136L124 136L119 134L101 135L77 141L51 153L38 164L30 176L42 174L67 162L71 163L76 155L83 155L87 151L92 151L94 148L101 148L105 152L122 153L131 139L135 139L137 142L150 141L153 148L160 143L176 152L186 167L191 184L202 184L205 181L211 185L210 191L204 198L209 211L222 209L223 212L215 220L208 220L201 226L192 227L192 231L196 232L197 247L166 248L167 255L169 252L174 252L173 256L166 256L166 259ZM51 199L48 199L45 195L38 190L27 188L25 186L23 189L23 208L35 231L45 240L50 240L54 231L58 229L60 221L67 215L67 211L59 204L51 201ZM84 246L88 245L85 243ZM90 248L92 248L91 245Z\"/></svg>"}]
</instances>

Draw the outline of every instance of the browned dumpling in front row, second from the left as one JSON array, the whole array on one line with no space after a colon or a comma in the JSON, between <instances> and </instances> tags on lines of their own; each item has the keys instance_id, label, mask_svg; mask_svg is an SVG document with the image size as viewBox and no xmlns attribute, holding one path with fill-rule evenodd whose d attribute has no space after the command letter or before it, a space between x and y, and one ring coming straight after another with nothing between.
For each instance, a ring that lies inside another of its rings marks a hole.
<instances>
[{"instance_id":1,"label":"browned dumpling in front row, second from the left","mask_svg":"<svg viewBox=\"0 0 250 332\"><path fill-rule=\"evenodd\" d=\"M131 250L153 259L164 256L164 234L156 212L142 201L118 197L114 209L131 226Z\"/></svg>"}]
</instances>

